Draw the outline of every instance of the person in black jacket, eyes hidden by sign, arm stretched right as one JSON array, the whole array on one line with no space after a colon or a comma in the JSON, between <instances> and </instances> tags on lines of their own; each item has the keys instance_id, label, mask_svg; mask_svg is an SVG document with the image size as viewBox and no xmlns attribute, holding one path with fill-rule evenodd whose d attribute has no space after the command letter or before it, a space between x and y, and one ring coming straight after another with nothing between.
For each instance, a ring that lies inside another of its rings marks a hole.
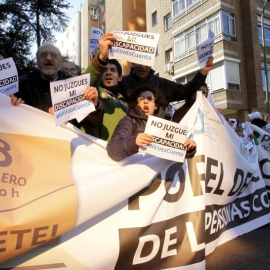
<instances>
[{"instance_id":1,"label":"person in black jacket, eyes hidden by sign, arm stretched right","mask_svg":"<svg viewBox=\"0 0 270 270\"><path fill-rule=\"evenodd\" d=\"M127 102L130 100L131 94L139 85L147 83L155 88L159 96L160 105L165 107L170 102L190 99L192 95L203 85L207 73L213 67L213 58L211 57L206 66L196 73L194 78L187 84L173 82L165 78L154 75L155 71L149 67L139 64L132 64L129 75L124 76L121 85L124 89L123 95Z\"/></svg>"}]
</instances>

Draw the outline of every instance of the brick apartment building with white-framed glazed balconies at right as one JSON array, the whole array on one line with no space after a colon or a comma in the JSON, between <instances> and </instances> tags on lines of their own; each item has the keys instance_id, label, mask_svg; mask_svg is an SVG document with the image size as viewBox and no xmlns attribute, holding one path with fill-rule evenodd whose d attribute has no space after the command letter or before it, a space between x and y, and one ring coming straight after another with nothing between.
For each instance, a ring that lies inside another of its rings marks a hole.
<instances>
[{"instance_id":1,"label":"brick apartment building with white-framed glazed balconies at right","mask_svg":"<svg viewBox=\"0 0 270 270\"><path fill-rule=\"evenodd\" d=\"M146 0L147 31L160 33L154 69L186 83L199 70L196 45L215 34L214 68L207 84L228 118L267 113L264 55L270 70L270 3L262 0ZM269 71L268 71L269 72ZM270 73L269 73L270 75ZM269 77L270 78L270 77Z\"/></svg>"}]
</instances>

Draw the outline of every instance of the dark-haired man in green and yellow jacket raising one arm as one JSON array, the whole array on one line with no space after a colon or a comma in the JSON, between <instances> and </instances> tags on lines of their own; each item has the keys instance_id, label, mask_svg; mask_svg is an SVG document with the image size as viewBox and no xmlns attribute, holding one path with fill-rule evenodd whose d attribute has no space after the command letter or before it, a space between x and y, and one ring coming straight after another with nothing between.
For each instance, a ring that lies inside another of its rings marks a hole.
<instances>
[{"instance_id":1,"label":"dark-haired man in green and yellow jacket raising one arm","mask_svg":"<svg viewBox=\"0 0 270 270\"><path fill-rule=\"evenodd\" d=\"M127 114L128 107L123 101L119 82L122 80L122 67L115 59L108 60L111 33L99 39L99 53L91 61L85 73L91 75L91 85L96 86L104 108L102 125L89 130L89 134L109 141L118 122Z\"/></svg>"}]
</instances>

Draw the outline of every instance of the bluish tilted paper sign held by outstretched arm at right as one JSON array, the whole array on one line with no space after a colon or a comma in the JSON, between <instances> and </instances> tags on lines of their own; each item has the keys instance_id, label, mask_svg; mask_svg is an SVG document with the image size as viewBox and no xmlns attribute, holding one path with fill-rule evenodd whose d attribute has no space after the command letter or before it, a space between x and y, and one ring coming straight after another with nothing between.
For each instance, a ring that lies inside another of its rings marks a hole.
<instances>
[{"instance_id":1,"label":"bluish tilted paper sign held by outstretched arm at right","mask_svg":"<svg viewBox=\"0 0 270 270\"><path fill-rule=\"evenodd\" d=\"M213 56L215 34L209 30L208 39L197 45L197 57L200 68L205 67L207 60Z\"/></svg>"}]
</instances>

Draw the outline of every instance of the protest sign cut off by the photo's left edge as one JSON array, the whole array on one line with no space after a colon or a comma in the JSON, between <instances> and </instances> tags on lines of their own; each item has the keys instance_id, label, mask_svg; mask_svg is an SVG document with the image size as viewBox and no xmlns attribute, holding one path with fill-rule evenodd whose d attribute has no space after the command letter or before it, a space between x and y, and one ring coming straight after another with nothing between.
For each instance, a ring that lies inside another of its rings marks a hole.
<instances>
[{"instance_id":1,"label":"protest sign cut off by the photo's left edge","mask_svg":"<svg viewBox=\"0 0 270 270\"><path fill-rule=\"evenodd\" d=\"M0 92L8 96L19 91L18 72L14 60L0 60Z\"/></svg>"}]
</instances>

